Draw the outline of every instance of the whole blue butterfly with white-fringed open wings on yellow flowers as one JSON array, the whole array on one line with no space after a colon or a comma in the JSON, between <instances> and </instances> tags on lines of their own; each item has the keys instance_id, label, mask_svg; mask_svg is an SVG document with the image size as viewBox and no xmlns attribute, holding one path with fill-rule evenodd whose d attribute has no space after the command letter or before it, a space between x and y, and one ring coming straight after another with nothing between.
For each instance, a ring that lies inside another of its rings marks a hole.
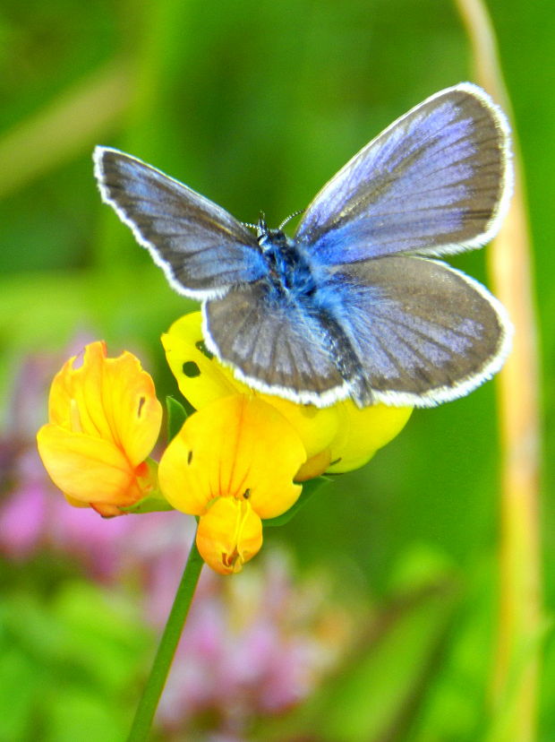
<instances>
[{"instance_id":1,"label":"whole blue butterfly with white-fringed open wings on yellow flowers","mask_svg":"<svg viewBox=\"0 0 555 742\"><path fill-rule=\"evenodd\" d=\"M294 237L236 220L124 152L97 147L102 199L170 285L202 303L207 348L263 393L325 407L427 407L499 371L511 324L437 258L488 242L508 210L508 121L469 82L401 116L329 180Z\"/></svg>"}]
</instances>

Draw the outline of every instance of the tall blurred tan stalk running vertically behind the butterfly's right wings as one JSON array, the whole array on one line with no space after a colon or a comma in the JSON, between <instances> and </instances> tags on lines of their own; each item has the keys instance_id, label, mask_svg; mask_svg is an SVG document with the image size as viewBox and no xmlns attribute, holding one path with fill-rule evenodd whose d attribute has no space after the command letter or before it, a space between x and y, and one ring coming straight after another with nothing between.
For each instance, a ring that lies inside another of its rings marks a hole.
<instances>
[{"instance_id":1,"label":"tall blurred tan stalk running vertically behind the butterfly's right wings","mask_svg":"<svg viewBox=\"0 0 555 742\"><path fill-rule=\"evenodd\" d=\"M495 36L481 0L457 0L473 48L477 81L508 112ZM515 134L515 188L511 208L490 250L493 289L515 325L513 350L499 374L501 531L499 620L491 690L490 738L536 738L542 617L538 525L538 353L535 337L531 250L522 165Z\"/></svg>"}]
</instances>

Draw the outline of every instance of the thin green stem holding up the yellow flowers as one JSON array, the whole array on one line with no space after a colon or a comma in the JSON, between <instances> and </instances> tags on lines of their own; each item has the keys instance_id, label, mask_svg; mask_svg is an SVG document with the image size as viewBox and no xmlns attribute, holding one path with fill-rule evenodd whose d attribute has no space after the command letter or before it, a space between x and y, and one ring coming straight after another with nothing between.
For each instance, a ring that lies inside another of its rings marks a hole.
<instances>
[{"instance_id":1,"label":"thin green stem holding up the yellow flowers","mask_svg":"<svg viewBox=\"0 0 555 742\"><path fill-rule=\"evenodd\" d=\"M127 742L144 742L149 738L152 720L166 685L166 677L174 659L175 648L181 637L185 619L189 613L189 608L191 608L192 596L197 582L199 582L203 564L196 543L193 541L183 577L175 593L174 605L167 618L164 634L162 634L158 644L158 651L150 670L149 679L142 692L141 701L135 712Z\"/></svg>"}]
</instances>

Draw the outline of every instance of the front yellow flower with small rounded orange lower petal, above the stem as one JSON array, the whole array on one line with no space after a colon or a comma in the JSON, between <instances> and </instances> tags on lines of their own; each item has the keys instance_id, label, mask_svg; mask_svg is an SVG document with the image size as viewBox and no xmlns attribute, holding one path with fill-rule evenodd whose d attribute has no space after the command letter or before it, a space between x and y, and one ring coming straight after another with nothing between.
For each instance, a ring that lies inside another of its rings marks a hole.
<instances>
[{"instance_id":1,"label":"front yellow flower with small rounded orange lower petal, above the stem","mask_svg":"<svg viewBox=\"0 0 555 742\"><path fill-rule=\"evenodd\" d=\"M238 572L262 544L262 518L285 513L301 494L300 436L252 394L234 394L188 418L158 467L177 510L200 516L197 546L217 572Z\"/></svg>"}]
</instances>

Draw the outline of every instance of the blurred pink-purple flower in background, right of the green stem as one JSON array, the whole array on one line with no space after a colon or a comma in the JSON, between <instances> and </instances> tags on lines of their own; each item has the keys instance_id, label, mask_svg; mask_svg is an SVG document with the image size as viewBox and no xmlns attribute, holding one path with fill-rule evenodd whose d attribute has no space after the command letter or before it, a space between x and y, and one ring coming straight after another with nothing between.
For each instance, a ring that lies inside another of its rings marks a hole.
<instances>
[{"instance_id":1,"label":"blurred pink-purple flower in background, right of the green stem","mask_svg":"<svg viewBox=\"0 0 555 742\"><path fill-rule=\"evenodd\" d=\"M216 719L223 738L243 739L252 720L286 712L311 694L352 628L346 611L330 605L324 583L294 581L281 551L269 551L233 581L205 572L158 722L183 733Z\"/></svg>"}]
</instances>

